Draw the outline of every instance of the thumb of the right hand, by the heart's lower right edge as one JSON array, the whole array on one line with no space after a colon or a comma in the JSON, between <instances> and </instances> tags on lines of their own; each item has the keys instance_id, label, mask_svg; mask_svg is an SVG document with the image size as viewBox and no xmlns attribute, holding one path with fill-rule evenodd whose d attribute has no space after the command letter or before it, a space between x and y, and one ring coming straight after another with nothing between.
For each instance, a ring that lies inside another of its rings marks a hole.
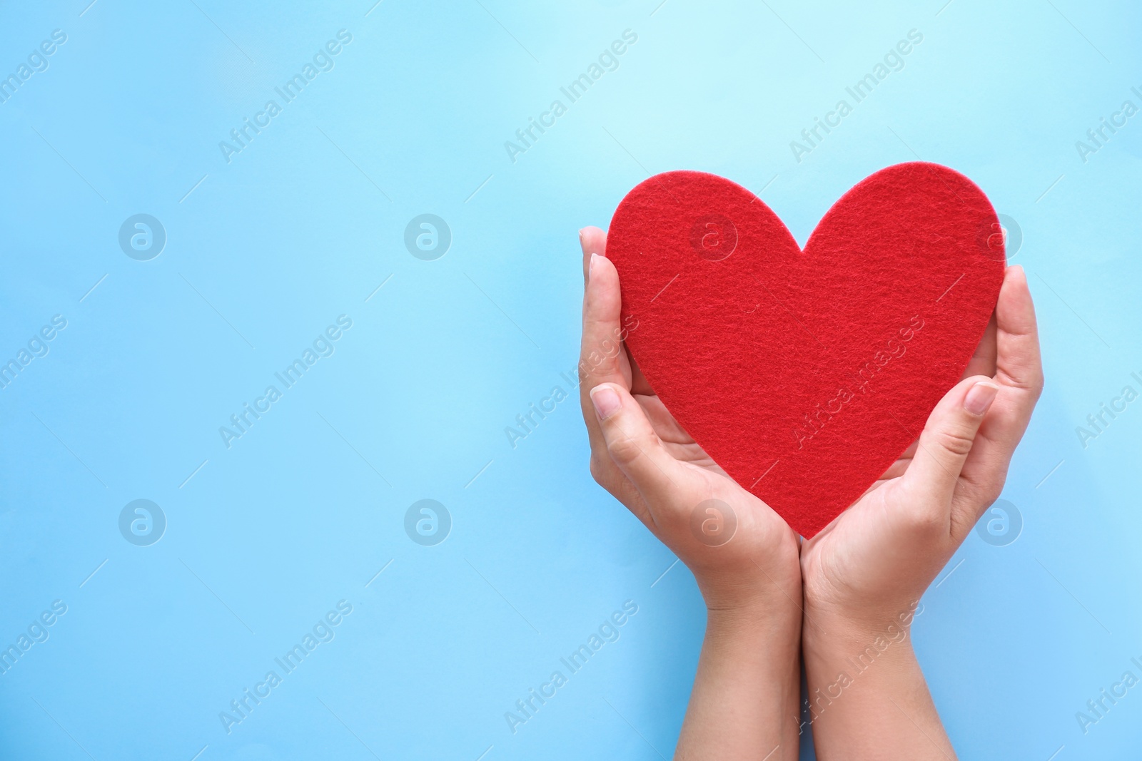
<instances>
[{"instance_id":1,"label":"thumb of the right hand, by the heart's lower right edge","mask_svg":"<svg viewBox=\"0 0 1142 761\"><path fill-rule=\"evenodd\" d=\"M902 479L909 508L917 516L947 525L960 471L998 391L998 383L986 375L967 378L928 415Z\"/></svg>"}]
</instances>

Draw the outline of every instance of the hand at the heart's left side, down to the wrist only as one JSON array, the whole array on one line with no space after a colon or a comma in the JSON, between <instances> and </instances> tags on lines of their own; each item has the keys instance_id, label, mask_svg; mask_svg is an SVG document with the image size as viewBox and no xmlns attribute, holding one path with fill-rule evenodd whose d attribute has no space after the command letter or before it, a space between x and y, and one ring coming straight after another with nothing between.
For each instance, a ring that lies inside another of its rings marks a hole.
<instances>
[{"instance_id":1,"label":"hand at the heart's left side, down to the wrist only","mask_svg":"<svg viewBox=\"0 0 1142 761\"><path fill-rule=\"evenodd\" d=\"M606 234L587 227L579 237L586 283L579 390L592 476L686 564L708 607L799 618L796 533L726 476L654 395L622 343L637 323L620 326Z\"/></svg>"}]
</instances>

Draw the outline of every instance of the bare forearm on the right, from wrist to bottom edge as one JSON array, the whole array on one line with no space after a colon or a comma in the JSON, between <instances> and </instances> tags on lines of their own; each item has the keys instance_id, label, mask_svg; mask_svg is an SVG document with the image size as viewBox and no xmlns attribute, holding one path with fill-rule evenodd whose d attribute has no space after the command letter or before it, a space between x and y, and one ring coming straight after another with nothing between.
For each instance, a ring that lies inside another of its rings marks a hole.
<instances>
[{"instance_id":1,"label":"bare forearm on the right, from wrist to bottom edge","mask_svg":"<svg viewBox=\"0 0 1142 761\"><path fill-rule=\"evenodd\" d=\"M818 759L956 758L907 628L854 626L822 616L805 624L803 640Z\"/></svg>"}]
</instances>

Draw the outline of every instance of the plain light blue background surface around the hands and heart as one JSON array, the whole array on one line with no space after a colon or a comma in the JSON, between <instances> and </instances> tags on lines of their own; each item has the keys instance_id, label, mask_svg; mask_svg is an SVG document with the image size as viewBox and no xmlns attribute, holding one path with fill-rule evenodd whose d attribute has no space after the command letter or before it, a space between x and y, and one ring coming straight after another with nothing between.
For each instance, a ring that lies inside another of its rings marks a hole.
<instances>
[{"instance_id":1,"label":"plain light blue background surface around the hands and heart","mask_svg":"<svg viewBox=\"0 0 1142 761\"><path fill-rule=\"evenodd\" d=\"M692 576L592 481L573 395L515 448L504 432L571 390L576 230L698 169L804 242L916 157L1018 220L1047 375L1004 493L1022 534L973 534L925 597L932 693L965 759L1142 753L1142 687L1086 735L1075 718L1142 677L1142 400L1085 448L1075 431L1142 390L1142 115L1086 162L1075 145L1142 106L1136 5L87 3L0 8L0 73L67 34L0 104L2 359L67 319L0 390L0 643L67 605L0 675L3 758L668 758ZM335 68L227 163L219 140L341 29ZM628 29L513 163L505 140ZM790 140L912 29L798 163ZM139 212L167 230L151 261L118 245ZM453 235L436 261L403 245L425 212ZM341 314L336 353L227 450L219 426ZM425 497L453 520L436 547L403 529ZM151 547L118 529L136 499L168 519ZM336 639L227 735L218 713L341 599ZM626 600L621 638L513 735L504 713Z\"/></svg>"}]
</instances>

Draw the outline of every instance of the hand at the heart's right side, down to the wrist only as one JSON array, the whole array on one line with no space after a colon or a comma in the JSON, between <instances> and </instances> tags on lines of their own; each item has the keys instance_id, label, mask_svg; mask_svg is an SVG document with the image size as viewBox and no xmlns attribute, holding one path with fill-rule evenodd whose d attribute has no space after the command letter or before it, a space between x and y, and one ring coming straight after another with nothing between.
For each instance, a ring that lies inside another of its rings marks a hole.
<instances>
[{"instance_id":1,"label":"hand at the heart's right side, down to the wrist only","mask_svg":"<svg viewBox=\"0 0 1142 761\"><path fill-rule=\"evenodd\" d=\"M802 545L809 621L875 633L915 609L999 496L1042 390L1027 276L1008 267L964 380L884 476ZM819 633L806 624L806 641Z\"/></svg>"}]
</instances>

